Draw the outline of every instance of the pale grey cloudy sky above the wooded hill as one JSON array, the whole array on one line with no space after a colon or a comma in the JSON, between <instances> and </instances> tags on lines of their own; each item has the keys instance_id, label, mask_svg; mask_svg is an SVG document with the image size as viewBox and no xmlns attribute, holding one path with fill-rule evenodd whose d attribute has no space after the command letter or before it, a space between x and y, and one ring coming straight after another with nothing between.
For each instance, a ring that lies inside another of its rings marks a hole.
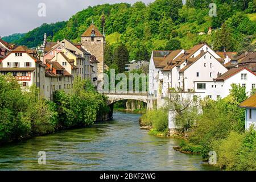
<instances>
[{"instance_id":1,"label":"pale grey cloudy sky above the wooded hill","mask_svg":"<svg viewBox=\"0 0 256 182\"><path fill-rule=\"evenodd\" d=\"M78 11L88 6L104 3L127 2L133 4L139 0L9 0L2 1L0 7L0 36L28 32L43 23L55 23L68 20ZM141 0L150 3L154 0ZM46 7L44 11L42 3ZM44 13L46 16L44 16ZM40 15L40 16L39 16Z\"/></svg>"}]
</instances>

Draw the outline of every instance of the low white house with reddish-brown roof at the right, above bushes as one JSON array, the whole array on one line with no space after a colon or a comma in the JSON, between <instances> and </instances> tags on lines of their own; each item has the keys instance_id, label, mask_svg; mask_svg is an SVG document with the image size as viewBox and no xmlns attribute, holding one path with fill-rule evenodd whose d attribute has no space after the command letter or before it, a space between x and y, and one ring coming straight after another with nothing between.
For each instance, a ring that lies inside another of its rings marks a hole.
<instances>
[{"instance_id":1,"label":"low white house with reddish-brown roof at the right, above bushes","mask_svg":"<svg viewBox=\"0 0 256 182\"><path fill-rule=\"evenodd\" d=\"M195 92L201 97L209 97L213 100L229 95L232 84L240 84L246 88L247 94L256 88L256 74L245 67L232 68L222 75L218 75L213 81L195 81Z\"/></svg>"}]
</instances>

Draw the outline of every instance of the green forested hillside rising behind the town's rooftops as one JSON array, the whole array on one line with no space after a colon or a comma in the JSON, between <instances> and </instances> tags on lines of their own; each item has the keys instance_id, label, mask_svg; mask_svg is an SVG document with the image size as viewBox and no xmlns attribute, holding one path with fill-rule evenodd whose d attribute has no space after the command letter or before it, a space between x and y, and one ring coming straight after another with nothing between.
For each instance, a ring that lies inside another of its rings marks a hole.
<instances>
[{"instance_id":1,"label":"green forested hillside rising behind the town's rooftops","mask_svg":"<svg viewBox=\"0 0 256 182\"><path fill-rule=\"evenodd\" d=\"M210 2L217 4L216 17L208 15ZM66 38L80 42L82 32L93 20L100 31L105 22L107 57L112 57L120 43L127 47L130 60L148 59L152 49L188 49L201 42L218 51L250 51L255 48L255 12L256 0L189 0L186 5L181 0L156 0L149 5L105 4L88 7L66 23L43 24L17 43L35 47L42 43L44 32L53 41ZM213 28L210 35L209 27ZM106 60L108 64L110 61Z\"/></svg>"}]
</instances>

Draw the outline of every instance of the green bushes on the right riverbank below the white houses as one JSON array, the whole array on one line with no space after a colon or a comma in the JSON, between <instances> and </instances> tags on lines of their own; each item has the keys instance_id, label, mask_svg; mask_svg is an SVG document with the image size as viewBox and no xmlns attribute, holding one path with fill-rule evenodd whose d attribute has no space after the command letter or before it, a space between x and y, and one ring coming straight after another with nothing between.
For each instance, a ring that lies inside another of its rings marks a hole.
<instances>
[{"instance_id":1,"label":"green bushes on the right riverbank below the white houses","mask_svg":"<svg viewBox=\"0 0 256 182\"><path fill-rule=\"evenodd\" d=\"M194 113L183 110L178 115L193 125L185 130L188 139L181 142L181 150L200 152L204 159L209 158L209 151L216 151L217 166L221 169L255 170L255 131L245 131L245 109L238 107L246 98L245 88L233 84L228 97L201 100L201 112L196 117L186 117Z\"/></svg>"}]
</instances>

